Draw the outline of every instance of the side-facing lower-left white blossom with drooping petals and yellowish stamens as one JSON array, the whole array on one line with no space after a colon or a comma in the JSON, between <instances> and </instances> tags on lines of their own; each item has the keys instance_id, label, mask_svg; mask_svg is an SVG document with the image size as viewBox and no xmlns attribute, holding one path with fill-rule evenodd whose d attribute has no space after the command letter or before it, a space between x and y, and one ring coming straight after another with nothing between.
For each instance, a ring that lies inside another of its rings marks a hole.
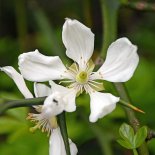
<instances>
[{"instance_id":1,"label":"side-facing lower-left white blossom with drooping petals and yellowish stamens","mask_svg":"<svg viewBox=\"0 0 155 155\"><path fill-rule=\"evenodd\" d=\"M1 67L0 70L4 71L10 78L14 80L18 89L25 98L33 98L33 95L26 86L23 76L19 74L13 67L5 66ZM60 96L61 94L57 91L52 92L51 88L41 83L34 83L34 94L35 97L44 97L49 95L49 98L52 102L49 103L48 100L45 100L43 105L34 106L38 113L29 113L28 119L30 119L32 122L35 122L36 125L30 128L30 130L34 131L39 128L42 130L42 132L47 132L48 135L50 135L49 155L66 155L64 141L55 117L65 109L65 105L63 105L62 102L62 96ZM69 139L69 144L71 155L76 155L78 150L71 139Z\"/></svg>"}]
</instances>

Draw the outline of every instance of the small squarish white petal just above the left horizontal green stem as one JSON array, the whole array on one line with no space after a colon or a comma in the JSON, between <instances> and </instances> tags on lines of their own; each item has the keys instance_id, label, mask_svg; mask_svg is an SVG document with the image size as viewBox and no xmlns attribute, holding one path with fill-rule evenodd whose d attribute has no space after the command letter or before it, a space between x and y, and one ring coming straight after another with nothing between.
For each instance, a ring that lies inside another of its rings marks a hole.
<instances>
[{"instance_id":1,"label":"small squarish white petal just above the left horizontal green stem","mask_svg":"<svg viewBox=\"0 0 155 155\"><path fill-rule=\"evenodd\" d=\"M51 88L42 83L34 83L35 97L44 97L51 94Z\"/></svg>"}]
</instances>

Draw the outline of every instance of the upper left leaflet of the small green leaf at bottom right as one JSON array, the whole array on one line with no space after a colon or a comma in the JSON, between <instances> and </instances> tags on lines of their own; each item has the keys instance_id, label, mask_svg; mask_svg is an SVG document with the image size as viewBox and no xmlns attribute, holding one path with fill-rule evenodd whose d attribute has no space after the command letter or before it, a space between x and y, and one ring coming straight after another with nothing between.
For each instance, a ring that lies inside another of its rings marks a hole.
<instances>
[{"instance_id":1,"label":"upper left leaflet of the small green leaf at bottom right","mask_svg":"<svg viewBox=\"0 0 155 155\"><path fill-rule=\"evenodd\" d=\"M125 141L134 144L134 130L130 125L123 123L119 129L119 134Z\"/></svg>"}]
</instances>

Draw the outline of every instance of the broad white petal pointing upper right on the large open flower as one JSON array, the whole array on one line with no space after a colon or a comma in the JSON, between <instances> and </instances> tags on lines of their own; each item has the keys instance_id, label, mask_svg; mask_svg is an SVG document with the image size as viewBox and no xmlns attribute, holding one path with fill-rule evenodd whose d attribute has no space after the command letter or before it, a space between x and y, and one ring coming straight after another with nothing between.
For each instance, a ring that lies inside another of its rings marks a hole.
<instances>
[{"instance_id":1,"label":"broad white petal pointing upper right on the large open flower","mask_svg":"<svg viewBox=\"0 0 155 155\"><path fill-rule=\"evenodd\" d=\"M133 76L138 62L137 47L120 38L110 45L104 64L94 75L110 82L125 82Z\"/></svg>"}]
</instances>

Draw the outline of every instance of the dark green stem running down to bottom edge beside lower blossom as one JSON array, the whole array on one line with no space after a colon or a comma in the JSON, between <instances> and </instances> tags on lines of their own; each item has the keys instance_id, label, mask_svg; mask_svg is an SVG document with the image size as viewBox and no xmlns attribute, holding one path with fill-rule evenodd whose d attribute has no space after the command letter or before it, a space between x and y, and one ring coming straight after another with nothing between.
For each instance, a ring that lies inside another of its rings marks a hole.
<instances>
[{"instance_id":1,"label":"dark green stem running down to bottom edge beside lower blossom","mask_svg":"<svg viewBox=\"0 0 155 155\"><path fill-rule=\"evenodd\" d=\"M65 112L58 115L57 119L58 119L58 124L60 126L60 131L61 131L61 134L62 134L62 138L64 140L66 154L71 155L69 141L68 141L68 133L67 133L67 126L66 126Z\"/></svg>"}]
</instances>

